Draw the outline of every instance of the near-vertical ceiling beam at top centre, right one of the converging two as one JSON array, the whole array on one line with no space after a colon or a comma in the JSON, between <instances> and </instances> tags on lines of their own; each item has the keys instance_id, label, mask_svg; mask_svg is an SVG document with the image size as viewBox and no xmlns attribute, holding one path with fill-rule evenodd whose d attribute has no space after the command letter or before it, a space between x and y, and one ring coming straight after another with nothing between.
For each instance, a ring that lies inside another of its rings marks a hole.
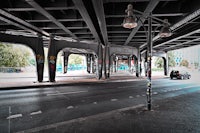
<instances>
[{"instance_id":1,"label":"near-vertical ceiling beam at top centre, right one of the converging two","mask_svg":"<svg viewBox=\"0 0 200 133\"><path fill-rule=\"evenodd\" d=\"M92 0L94 10L97 16L101 34L103 36L104 44L108 44L108 33L106 28L105 13L102 0Z\"/></svg>"}]
</instances>

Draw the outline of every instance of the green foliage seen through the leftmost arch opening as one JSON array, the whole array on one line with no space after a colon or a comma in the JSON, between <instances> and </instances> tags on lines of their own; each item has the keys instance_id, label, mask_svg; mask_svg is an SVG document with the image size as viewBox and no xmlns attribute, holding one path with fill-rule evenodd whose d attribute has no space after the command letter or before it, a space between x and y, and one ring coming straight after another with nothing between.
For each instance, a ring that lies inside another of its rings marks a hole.
<instances>
[{"instance_id":1,"label":"green foliage seen through the leftmost arch opening","mask_svg":"<svg viewBox=\"0 0 200 133\"><path fill-rule=\"evenodd\" d=\"M0 67L25 67L29 56L30 52L22 47L0 43Z\"/></svg>"}]
</instances>

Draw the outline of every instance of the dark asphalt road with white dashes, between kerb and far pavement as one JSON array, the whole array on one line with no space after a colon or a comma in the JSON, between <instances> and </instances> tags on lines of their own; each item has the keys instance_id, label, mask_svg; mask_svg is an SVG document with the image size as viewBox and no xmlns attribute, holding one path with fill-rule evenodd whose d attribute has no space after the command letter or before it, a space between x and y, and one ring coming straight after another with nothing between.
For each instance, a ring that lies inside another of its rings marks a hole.
<instances>
[{"instance_id":1,"label":"dark asphalt road with white dashes, between kerb and far pavement","mask_svg":"<svg viewBox=\"0 0 200 133\"><path fill-rule=\"evenodd\" d=\"M87 118L121 108L146 105L146 83L144 79L2 90L0 132L31 132L40 127L48 129L47 125ZM200 90L200 84L193 82L192 79L163 78L154 79L152 83L152 103Z\"/></svg>"}]
</instances>

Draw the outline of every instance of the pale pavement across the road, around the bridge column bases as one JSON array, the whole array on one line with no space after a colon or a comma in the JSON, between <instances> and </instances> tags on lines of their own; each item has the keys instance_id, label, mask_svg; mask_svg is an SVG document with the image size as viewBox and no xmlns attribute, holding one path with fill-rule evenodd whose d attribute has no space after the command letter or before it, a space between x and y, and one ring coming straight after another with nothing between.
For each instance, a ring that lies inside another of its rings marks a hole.
<instances>
[{"instance_id":1,"label":"pale pavement across the road, around the bridge column bases","mask_svg":"<svg viewBox=\"0 0 200 133\"><path fill-rule=\"evenodd\" d=\"M43 82L36 81L35 73L0 73L0 89L24 89L62 86L74 83L92 83L109 81L133 81L142 80L144 77L136 77L128 72L118 72L111 74L109 79L98 80L95 74L88 74L85 71L71 71L67 74L56 73L56 82L48 82L48 76L44 75Z\"/></svg>"}]
</instances>

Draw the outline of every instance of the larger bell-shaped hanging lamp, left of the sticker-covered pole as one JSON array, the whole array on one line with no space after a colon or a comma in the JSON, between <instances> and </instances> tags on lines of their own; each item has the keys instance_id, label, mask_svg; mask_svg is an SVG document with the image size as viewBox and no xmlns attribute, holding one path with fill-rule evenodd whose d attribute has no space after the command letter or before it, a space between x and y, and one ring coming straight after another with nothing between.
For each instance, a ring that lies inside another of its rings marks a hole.
<instances>
[{"instance_id":1,"label":"larger bell-shaped hanging lamp, left of the sticker-covered pole","mask_svg":"<svg viewBox=\"0 0 200 133\"><path fill-rule=\"evenodd\" d=\"M128 29L132 29L137 27L137 18L135 17L135 15L133 14L133 6L132 4L129 4L127 9L125 10L125 12L127 13L127 16L124 18L123 21L123 27L124 28L128 28Z\"/></svg>"}]
</instances>

